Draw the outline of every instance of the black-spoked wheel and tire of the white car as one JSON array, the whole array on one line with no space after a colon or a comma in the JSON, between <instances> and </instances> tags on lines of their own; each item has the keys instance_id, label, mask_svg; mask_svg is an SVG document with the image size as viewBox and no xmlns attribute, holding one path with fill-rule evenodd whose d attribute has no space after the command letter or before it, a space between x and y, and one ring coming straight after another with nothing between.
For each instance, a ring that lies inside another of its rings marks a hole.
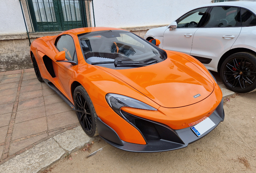
<instances>
[{"instance_id":1,"label":"black-spoked wheel and tire of the white car","mask_svg":"<svg viewBox=\"0 0 256 173\"><path fill-rule=\"evenodd\" d=\"M221 65L221 80L237 93L248 93L256 88L256 56L249 52L230 55Z\"/></svg>"}]
</instances>

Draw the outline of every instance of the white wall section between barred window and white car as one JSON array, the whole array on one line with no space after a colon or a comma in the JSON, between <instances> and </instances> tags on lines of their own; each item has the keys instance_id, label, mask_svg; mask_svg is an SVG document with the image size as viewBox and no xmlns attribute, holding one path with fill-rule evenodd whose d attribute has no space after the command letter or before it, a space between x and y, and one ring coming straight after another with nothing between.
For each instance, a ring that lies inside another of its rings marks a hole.
<instances>
[{"instance_id":1,"label":"white wall section between barred window and white car","mask_svg":"<svg viewBox=\"0 0 256 173\"><path fill-rule=\"evenodd\" d=\"M93 0L96 26L116 28L170 24L211 0Z\"/></svg>"}]
</instances>

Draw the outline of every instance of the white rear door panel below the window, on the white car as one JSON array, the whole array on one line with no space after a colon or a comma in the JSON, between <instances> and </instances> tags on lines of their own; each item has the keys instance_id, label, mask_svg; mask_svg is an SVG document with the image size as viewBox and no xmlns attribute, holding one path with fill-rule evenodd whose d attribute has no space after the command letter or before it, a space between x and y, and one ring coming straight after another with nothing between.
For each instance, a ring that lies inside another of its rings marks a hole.
<instances>
[{"instance_id":1,"label":"white rear door panel below the window, on the white car","mask_svg":"<svg viewBox=\"0 0 256 173\"><path fill-rule=\"evenodd\" d=\"M206 66L217 68L221 56L231 49L241 27L199 28L194 34L190 55L212 59Z\"/></svg>"}]
</instances>

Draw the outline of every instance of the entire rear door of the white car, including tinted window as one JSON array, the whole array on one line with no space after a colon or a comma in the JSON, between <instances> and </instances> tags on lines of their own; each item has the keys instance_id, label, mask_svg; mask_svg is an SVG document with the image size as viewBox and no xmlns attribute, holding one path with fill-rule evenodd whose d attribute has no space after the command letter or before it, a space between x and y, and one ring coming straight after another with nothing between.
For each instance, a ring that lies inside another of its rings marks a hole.
<instances>
[{"instance_id":1,"label":"entire rear door of the white car, including tinted window","mask_svg":"<svg viewBox=\"0 0 256 173\"><path fill-rule=\"evenodd\" d=\"M194 34L190 55L217 71L219 59L230 50L241 32L239 11L237 7L213 7L204 27Z\"/></svg>"}]
</instances>

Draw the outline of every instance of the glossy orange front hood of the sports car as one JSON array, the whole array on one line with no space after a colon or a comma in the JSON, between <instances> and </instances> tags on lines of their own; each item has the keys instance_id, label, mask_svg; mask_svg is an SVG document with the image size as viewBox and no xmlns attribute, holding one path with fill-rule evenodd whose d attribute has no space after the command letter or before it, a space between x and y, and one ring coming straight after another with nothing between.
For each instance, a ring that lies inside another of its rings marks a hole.
<instances>
[{"instance_id":1,"label":"glossy orange front hood of the sports car","mask_svg":"<svg viewBox=\"0 0 256 173\"><path fill-rule=\"evenodd\" d=\"M149 66L124 70L99 68L120 78L161 107L192 105L213 92L213 82L199 68L182 56L171 52L167 55L166 60Z\"/></svg>"}]
</instances>

